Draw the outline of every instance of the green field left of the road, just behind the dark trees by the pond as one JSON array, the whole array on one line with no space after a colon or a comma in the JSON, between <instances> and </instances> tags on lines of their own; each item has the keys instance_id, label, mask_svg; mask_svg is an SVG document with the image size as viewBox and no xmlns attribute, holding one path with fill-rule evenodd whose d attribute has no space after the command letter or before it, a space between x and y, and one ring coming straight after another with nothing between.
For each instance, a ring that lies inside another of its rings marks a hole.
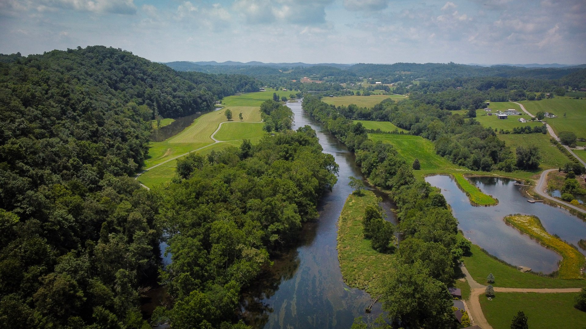
<instances>
[{"instance_id":1,"label":"green field left of the road, just behind the dark trees by the pond","mask_svg":"<svg viewBox=\"0 0 586 329\"><path fill-rule=\"evenodd\" d=\"M563 153L556 148L556 146L550 143L550 135L543 135L543 133L509 133L502 134L498 133L497 136L500 140L504 140L506 145L509 146L513 153L517 146L530 146L536 145L541 152L541 170L558 168L563 166L565 163L570 162Z\"/></svg>"}]
</instances>

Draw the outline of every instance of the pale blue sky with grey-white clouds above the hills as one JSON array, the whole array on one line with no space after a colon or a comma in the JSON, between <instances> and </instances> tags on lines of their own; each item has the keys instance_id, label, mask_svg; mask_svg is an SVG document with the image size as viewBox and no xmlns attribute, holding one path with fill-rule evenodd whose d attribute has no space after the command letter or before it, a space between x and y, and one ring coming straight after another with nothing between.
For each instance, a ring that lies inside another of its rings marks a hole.
<instances>
[{"instance_id":1,"label":"pale blue sky with grey-white clouds above the hills","mask_svg":"<svg viewBox=\"0 0 586 329\"><path fill-rule=\"evenodd\" d=\"M152 61L586 63L584 0L0 0L0 53Z\"/></svg>"}]
</instances>

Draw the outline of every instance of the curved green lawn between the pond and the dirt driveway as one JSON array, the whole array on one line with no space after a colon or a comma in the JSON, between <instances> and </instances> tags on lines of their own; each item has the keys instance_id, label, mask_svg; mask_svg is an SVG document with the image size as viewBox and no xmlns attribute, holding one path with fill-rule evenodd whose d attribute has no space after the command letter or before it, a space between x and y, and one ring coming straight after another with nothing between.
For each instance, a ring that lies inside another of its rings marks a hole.
<instances>
[{"instance_id":1,"label":"curved green lawn between the pond and the dirt driveway","mask_svg":"<svg viewBox=\"0 0 586 329\"><path fill-rule=\"evenodd\" d=\"M472 255L464 256L464 264L473 279L486 285L486 276L492 273L495 276L495 287L512 288L574 288L585 287L586 280L567 280L553 277L523 273L520 270L505 265L483 252L477 245L472 245Z\"/></svg>"}]
</instances>

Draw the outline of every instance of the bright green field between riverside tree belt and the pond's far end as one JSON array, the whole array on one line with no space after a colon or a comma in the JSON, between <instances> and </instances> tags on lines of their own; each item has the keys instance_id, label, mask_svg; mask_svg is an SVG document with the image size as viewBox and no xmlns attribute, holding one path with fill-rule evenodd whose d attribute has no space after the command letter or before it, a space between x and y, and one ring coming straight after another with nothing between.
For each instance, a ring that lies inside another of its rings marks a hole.
<instances>
[{"instance_id":1,"label":"bright green field between riverside tree belt and the pond's far end","mask_svg":"<svg viewBox=\"0 0 586 329\"><path fill-rule=\"evenodd\" d=\"M454 163L449 162L448 159L437 155L435 153L434 143L421 136L395 135L390 133L369 133L368 135L372 140L382 140L393 145L408 165L411 165L415 158L419 159L421 170L458 168ZM417 170L414 173L417 174Z\"/></svg>"}]
</instances>

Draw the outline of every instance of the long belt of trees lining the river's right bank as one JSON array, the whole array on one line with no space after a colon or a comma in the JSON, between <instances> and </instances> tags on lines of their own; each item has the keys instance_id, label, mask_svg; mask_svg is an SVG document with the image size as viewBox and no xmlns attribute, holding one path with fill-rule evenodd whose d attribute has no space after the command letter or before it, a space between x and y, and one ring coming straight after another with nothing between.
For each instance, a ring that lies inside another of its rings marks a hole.
<instances>
[{"instance_id":1,"label":"long belt of trees lining the river's right bank","mask_svg":"<svg viewBox=\"0 0 586 329\"><path fill-rule=\"evenodd\" d=\"M455 279L460 258L469 252L470 245L456 237L458 221L445 198L429 183L415 180L411 166L393 146L373 142L360 123L343 118L332 105L317 97L306 97L303 108L354 150L364 176L370 183L389 190L397 205L398 229L404 239L390 266L394 270L383 279L381 300L387 311L386 320L410 328L453 327L455 318L447 285ZM378 213L370 210L366 217L380 219ZM359 323L353 326L367 327Z\"/></svg>"}]
</instances>

